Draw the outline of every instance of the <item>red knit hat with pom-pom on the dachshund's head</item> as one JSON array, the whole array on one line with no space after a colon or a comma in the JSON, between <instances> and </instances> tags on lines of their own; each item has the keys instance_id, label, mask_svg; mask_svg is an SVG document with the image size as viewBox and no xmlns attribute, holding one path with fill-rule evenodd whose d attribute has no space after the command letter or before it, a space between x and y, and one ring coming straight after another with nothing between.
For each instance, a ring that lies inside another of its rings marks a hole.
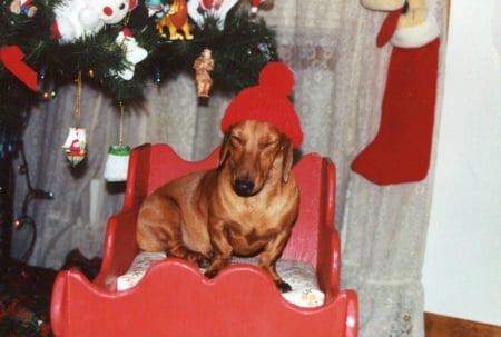
<instances>
[{"instance_id":1,"label":"red knit hat with pom-pom on the dachshund's head","mask_svg":"<svg viewBox=\"0 0 501 337\"><path fill-rule=\"evenodd\" d=\"M259 83L242 90L226 108L220 129L244 120L258 120L273 125L292 141L294 148L303 142L299 118L288 96L294 87L294 75L282 62L268 62L259 73Z\"/></svg>"}]
</instances>

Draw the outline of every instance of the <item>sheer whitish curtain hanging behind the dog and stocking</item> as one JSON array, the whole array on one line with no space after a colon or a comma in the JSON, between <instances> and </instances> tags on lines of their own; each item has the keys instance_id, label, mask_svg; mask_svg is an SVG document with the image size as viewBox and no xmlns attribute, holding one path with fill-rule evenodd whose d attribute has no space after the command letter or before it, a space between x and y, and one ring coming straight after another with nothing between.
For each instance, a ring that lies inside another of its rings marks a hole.
<instances>
[{"instance_id":1,"label":"sheer whitish curtain hanging behind the dog and stocking","mask_svg":"<svg viewBox=\"0 0 501 337\"><path fill-rule=\"evenodd\" d=\"M429 0L442 30L435 125L446 8L446 0ZM421 267L433 161L424 181L387 187L350 169L379 127L391 47L376 48L375 36L385 14L364 9L357 0L276 0L261 14L276 28L279 57L295 72L294 103L305 133L302 151L331 157L337 168L342 285L358 293L360 336L423 336ZM106 220L121 206L121 190L102 179L108 147L118 142L118 108L87 87L82 100L88 132L84 167L71 169L61 149L75 122L75 87L62 88L56 99L33 110L26 130L32 185L56 196L29 208L38 228L32 265L59 268L73 248L88 257L100 255ZM191 75L160 87L151 82L140 109L126 107L124 141L131 147L167 142L186 159L203 159L220 141L219 120L229 100L214 93L208 107L198 106ZM434 143L436 139L434 135ZM19 210L26 191L22 176L16 185ZM29 228L14 232L14 256L23 254L29 235Z\"/></svg>"}]
</instances>

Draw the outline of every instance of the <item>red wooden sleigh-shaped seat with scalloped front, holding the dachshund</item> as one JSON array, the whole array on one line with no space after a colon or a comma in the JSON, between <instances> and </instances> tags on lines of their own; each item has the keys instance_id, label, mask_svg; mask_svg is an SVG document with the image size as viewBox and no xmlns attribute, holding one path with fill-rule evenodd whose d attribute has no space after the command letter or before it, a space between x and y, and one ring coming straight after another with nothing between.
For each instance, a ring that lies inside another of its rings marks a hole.
<instances>
[{"instance_id":1,"label":"red wooden sleigh-shaped seat with scalloped front, holding the dachshund","mask_svg":"<svg viewBox=\"0 0 501 337\"><path fill-rule=\"evenodd\" d=\"M140 254L140 202L160 185L213 168L217 160L218 149L202 161L186 161L167 145L132 150L124 208L108 221L99 275L89 281L79 270L65 270L56 278L50 310L56 336L357 336L356 294L340 289L335 167L316 153L303 156L293 168L299 216L281 260L313 267L323 304L305 308L288 301L254 265L236 264L208 279L176 258L155 261L134 286L117 289Z\"/></svg>"}]
</instances>

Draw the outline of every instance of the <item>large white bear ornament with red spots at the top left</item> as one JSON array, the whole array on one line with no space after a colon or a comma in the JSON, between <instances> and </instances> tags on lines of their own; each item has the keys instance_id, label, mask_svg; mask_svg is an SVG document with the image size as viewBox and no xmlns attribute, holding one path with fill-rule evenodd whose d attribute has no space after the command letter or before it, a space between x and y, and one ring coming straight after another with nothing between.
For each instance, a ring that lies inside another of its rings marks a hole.
<instances>
[{"instance_id":1,"label":"large white bear ornament with red spots at the top left","mask_svg":"<svg viewBox=\"0 0 501 337\"><path fill-rule=\"evenodd\" d=\"M116 24L137 6L137 0L65 0L53 10L51 36L61 43L97 33Z\"/></svg>"}]
</instances>

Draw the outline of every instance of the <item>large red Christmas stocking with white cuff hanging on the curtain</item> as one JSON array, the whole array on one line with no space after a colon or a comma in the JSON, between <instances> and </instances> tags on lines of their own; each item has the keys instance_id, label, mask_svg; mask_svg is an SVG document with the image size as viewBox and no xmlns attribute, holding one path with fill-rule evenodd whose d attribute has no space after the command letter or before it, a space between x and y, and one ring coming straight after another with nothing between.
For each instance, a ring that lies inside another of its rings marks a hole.
<instances>
[{"instance_id":1,"label":"large red Christmas stocking with white cuff hanging on the curtain","mask_svg":"<svg viewBox=\"0 0 501 337\"><path fill-rule=\"evenodd\" d=\"M384 44L383 33L377 44ZM433 136L440 47L436 24L399 29L392 44L380 129L352 162L354 171L377 185L424 179Z\"/></svg>"}]
</instances>

